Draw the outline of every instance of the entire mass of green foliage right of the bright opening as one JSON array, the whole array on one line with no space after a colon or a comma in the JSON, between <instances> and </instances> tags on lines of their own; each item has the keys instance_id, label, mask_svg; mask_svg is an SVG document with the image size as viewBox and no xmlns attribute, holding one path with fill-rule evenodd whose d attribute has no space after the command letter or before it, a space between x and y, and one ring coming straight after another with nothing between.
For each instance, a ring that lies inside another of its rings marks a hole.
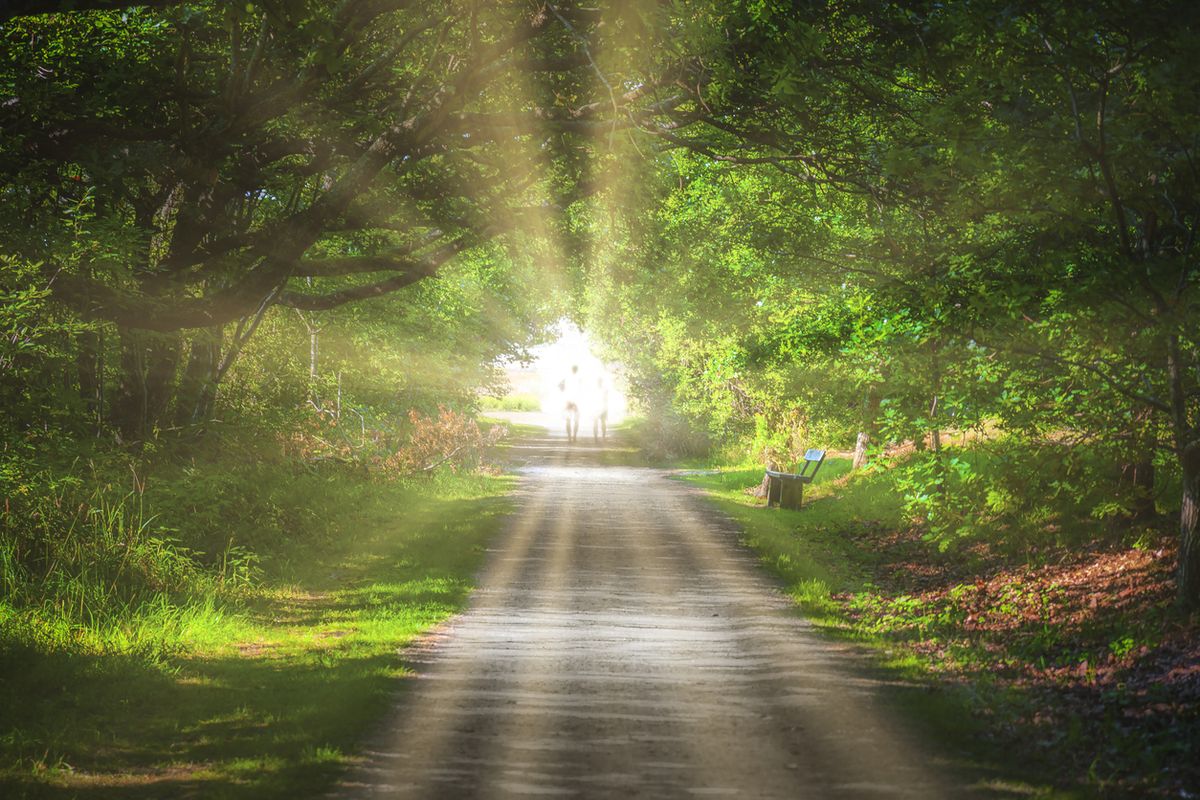
<instances>
[{"instance_id":1,"label":"entire mass of green foliage right of the bright opening","mask_svg":"<svg viewBox=\"0 0 1200 800\"><path fill-rule=\"evenodd\" d=\"M943 435L1108 443L1132 516L1181 480L1200 602L1195 7L709 12L680 44L706 80L643 128L653 223L577 223L612 241L586 308L635 389L662 381L652 416L758 458L928 447L898 475L946 541L986 479Z\"/></svg>"}]
</instances>

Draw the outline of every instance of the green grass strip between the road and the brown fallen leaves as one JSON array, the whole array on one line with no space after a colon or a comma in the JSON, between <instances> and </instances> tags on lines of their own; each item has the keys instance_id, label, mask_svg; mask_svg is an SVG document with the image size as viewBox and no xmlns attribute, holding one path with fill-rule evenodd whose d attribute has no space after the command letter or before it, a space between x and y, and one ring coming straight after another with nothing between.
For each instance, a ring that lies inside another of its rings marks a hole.
<instances>
[{"instance_id":1,"label":"green grass strip between the road and the brown fallen leaves","mask_svg":"<svg viewBox=\"0 0 1200 800\"><path fill-rule=\"evenodd\" d=\"M858 626L835 595L871 595L877 551L862 547L858 534L902 524L900 500L884 475L844 476L848 458L829 458L815 483L805 487L798 511L766 509L763 500L744 489L762 480L762 468L721 469L715 474L685 475L712 503L733 518L743 542L792 596L797 608L827 636L866 648L874 668L895 688L889 700L912 723L947 752L954 766L978 781L989 795L1012 798L1078 798L1074 789L1054 786L1054 775L997 754L988 738L997 717L982 717L982 708L1004 709L1022 698L1002 697L982 676L972 685L944 685L928 661L906 652L886 631ZM844 480L838 480L844 479ZM1002 720L1000 722L1003 722ZM1012 776L1019 776L1014 780Z\"/></svg>"}]
</instances>

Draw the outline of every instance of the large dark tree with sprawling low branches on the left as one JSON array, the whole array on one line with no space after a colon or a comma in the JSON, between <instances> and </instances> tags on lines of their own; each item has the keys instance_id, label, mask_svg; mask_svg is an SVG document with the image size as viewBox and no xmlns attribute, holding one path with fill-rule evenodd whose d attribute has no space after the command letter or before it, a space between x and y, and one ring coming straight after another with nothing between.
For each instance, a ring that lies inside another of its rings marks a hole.
<instances>
[{"instance_id":1,"label":"large dark tree with sprawling low branches on the left","mask_svg":"<svg viewBox=\"0 0 1200 800\"><path fill-rule=\"evenodd\" d=\"M206 331L184 383L211 395L272 306L380 296L551 228L598 187L604 152L577 151L654 80L605 86L593 50L637 20L574 4L79 11L116 5L7 12L0 201L55 296L116 325L133 435L167 407L181 330Z\"/></svg>"}]
</instances>

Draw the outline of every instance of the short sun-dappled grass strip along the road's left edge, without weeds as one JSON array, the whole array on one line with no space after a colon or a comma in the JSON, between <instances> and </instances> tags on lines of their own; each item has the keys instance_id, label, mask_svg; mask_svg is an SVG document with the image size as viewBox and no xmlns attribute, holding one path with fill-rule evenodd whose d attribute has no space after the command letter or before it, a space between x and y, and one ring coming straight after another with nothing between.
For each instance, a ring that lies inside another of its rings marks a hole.
<instances>
[{"instance_id":1,"label":"short sun-dappled grass strip along the road's left edge, without weeds","mask_svg":"<svg viewBox=\"0 0 1200 800\"><path fill-rule=\"evenodd\" d=\"M378 487L353 536L293 546L287 584L175 630L157 661L7 650L0 702L14 712L0 747L14 768L0 784L250 800L329 780L407 674L397 648L462 607L508 487L476 475ZM62 697L76 684L90 692Z\"/></svg>"}]
</instances>

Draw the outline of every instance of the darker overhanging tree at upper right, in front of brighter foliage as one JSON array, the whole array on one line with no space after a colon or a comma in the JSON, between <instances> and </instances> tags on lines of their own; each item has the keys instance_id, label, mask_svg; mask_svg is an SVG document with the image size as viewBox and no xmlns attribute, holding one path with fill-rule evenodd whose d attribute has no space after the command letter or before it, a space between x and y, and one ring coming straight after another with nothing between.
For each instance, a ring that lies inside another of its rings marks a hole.
<instances>
[{"instance_id":1,"label":"darker overhanging tree at upper right, in front of brighter foliage","mask_svg":"<svg viewBox=\"0 0 1200 800\"><path fill-rule=\"evenodd\" d=\"M1169 1L731 4L706 40L706 80L643 126L710 163L769 167L794 184L796 218L834 221L832 235L791 237L787 260L904 311L931 409L906 414L926 431L941 427L947 371L982 351L1038 365L1046 398L1090 386L1070 397L1106 419L1104 435L1139 420L1142 462L1157 445L1145 411L1162 415L1193 607L1196 14Z\"/></svg>"}]
</instances>

